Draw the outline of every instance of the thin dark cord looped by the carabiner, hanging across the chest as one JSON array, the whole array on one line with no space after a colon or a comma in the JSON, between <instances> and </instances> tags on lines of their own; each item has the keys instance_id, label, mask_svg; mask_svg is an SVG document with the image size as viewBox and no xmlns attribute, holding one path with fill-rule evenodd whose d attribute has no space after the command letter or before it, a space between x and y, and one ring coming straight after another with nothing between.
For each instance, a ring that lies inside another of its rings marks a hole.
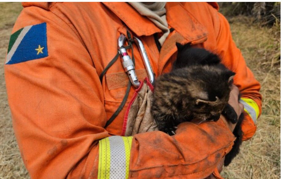
<instances>
[{"instance_id":1,"label":"thin dark cord looped by the carabiner, hanging across the chest","mask_svg":"<svg viewBox=\"0 0 282 179\"><path fill-rule=\"evenodd\" d=\"M125 49L129 49L131 48L131 51L132 51L132 61L133 61L133 64L135 65L135 58L134 58L134 55L133 55L133 46L132 46L132 42L133 42L133 39L130 38L130 40L128 41L128 46L125 47ZM103 76L105 75L105 73L108 71L108 69L116 62L116 60L118 59L119 57L119 53L117 52L116 53L116 56L109 62L109 64L105 67L105 69L102 71L101 75L100 75L100 81L102 83L103 81ZM117 108L116 112L114 112L114 114L112 114L112 116L109 118L109 120L107 121L106 125L105 125L105 128L108 127L112 121L115 120L116 116L120 113L120 111L123 109L127 99L128 99L128 95L129 95L129 91L130 91L130 88L131 88L131 82L130 80L128 80L128 85L127 85L127 88L126 88L126 91L125 91L125 95L124 95L124 98L122 99L122 102L120 103L120 106Z\"/></svg>"}]
</instances>

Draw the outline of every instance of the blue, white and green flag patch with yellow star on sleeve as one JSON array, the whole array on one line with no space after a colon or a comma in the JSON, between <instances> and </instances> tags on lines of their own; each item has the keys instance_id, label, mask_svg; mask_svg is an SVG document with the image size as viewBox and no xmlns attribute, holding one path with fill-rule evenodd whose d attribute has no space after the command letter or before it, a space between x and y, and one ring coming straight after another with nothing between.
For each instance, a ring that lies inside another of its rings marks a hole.
<instances>
[{"instance_id":1,"label":"blue, white and green flag patch with yellow star on sleeve","mask_svg":"<svg viewBox=\"0 0 282 179\"><path fill-rule=\"evenodd\" d=\"M21 28L10 37L6 64L48 56L46 23Z\"/></svg>"}]
</instances>

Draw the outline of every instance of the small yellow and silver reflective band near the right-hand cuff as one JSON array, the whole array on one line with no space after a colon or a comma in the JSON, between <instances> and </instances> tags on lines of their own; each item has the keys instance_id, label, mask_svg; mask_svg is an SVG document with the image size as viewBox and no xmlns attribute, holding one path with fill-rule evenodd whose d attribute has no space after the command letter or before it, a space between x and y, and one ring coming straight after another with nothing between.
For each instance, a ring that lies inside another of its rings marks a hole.
<instances>
[{"instance_id":1,"label":"small yellow and silver reflective band near the right-hand cuff","mask_svg":"<svg viewBox=\"0 0 282 179\"><path fill-rule=\"evenodd\" d=\"M259 107L253 99L241 98L240 102L244 105L244 110L256 121L259 115Z\"/></svg>"}]
</instances>

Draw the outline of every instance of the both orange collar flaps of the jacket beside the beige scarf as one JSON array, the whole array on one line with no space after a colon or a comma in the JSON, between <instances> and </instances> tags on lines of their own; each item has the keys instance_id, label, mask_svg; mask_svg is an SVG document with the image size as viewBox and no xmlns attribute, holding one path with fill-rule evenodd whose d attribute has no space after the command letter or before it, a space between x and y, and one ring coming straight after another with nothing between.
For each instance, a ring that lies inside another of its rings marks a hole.
<instances>
[{"instance_id":1,"label":"both orange collar flaps of the jacket beside the beige scarf","mask_svg":"<svg viewBox=\"0 0 282 179\"><path fill-rule=\"evenodd\" d=\"M103 2L103 4L115 13L137 36L162 32L147 17L140 15L126 2ZM179 2L166 3L166 19L169 26L180 33L186 39L185 41L196 41L208 35L206 28Z\"/></svg>"}]
</instances>

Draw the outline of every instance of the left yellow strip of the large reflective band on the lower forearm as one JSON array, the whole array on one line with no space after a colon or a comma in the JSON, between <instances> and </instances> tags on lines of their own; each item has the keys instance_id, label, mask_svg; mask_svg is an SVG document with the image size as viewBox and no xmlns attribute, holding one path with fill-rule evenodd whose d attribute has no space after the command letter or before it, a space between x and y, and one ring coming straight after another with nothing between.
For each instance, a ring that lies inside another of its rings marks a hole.
<instances>
[{"instance_id":1,"label":"left yellow strip of the large reflective band on the lower forearm","mask_svg":"<svg viewBox=\"0 0 282 179\"><path fill-rule=\"evenodd\" d=\"M109 137L99 140L98 179L110 178L111 149Z\"/></svg>"}]
</instances>

